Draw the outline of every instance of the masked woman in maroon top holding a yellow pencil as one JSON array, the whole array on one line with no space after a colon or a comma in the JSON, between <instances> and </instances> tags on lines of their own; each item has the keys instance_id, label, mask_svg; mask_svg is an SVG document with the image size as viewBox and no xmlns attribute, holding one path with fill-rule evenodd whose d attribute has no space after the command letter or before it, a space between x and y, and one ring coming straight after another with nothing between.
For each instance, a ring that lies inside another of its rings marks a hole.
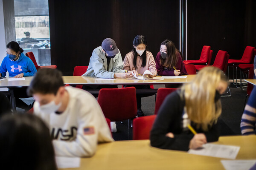
<instances>
[{"instance_id":1,"label":"masked woman in maroon top holding a yellow pencil","mask_svg":"<svg viewBox=\"0 0 256 170\"><path fill-rule=\"evenodd\" d=\"M170 40L164 40L161 43L160 51L156 57L156 68L159 76L180 76L187 74L180 53Z\"/></svg>"}]
</instances>

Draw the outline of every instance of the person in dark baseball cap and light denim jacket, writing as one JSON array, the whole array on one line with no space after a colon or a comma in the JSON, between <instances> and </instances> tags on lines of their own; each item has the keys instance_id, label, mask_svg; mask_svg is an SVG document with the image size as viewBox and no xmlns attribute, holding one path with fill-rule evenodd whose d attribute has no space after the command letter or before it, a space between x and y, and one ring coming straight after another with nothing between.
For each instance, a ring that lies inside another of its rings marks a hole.
<instances>
[{"instance_id":1,"label":"person in dark baseball cap and light denim jacket, writing","mask_svg":"<svg viewBox=\"0 0 256 170\"><path fill-rule=\"evenodd\" d=\"M133 77L132 71L123 70L122 56L111 38L103 40L102 45L93 50L86 73L82 76L99 78L128 78Z\"/></svg>"}]
</instances>

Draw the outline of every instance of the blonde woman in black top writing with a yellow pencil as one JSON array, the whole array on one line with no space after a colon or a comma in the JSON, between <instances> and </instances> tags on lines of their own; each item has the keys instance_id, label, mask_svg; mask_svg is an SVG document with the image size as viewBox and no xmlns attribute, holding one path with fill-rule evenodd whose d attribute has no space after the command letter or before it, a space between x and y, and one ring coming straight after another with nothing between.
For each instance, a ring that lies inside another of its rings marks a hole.
<instances>
[{"instance_id":1,"label":"blonde woman in black top writing with a yellow pencil","mask_svg":"<svg viewBox=\"0 0 256 170\"><path fill-rule=\"evenodd\" d=\"M193 82L167 96L151 130L151 146L189 150L218 141L220 94L227 86L228 80L222 71L209 66L199 71ZM188 125L197 134L194 135Z\"/></svg>"}]
</instances>

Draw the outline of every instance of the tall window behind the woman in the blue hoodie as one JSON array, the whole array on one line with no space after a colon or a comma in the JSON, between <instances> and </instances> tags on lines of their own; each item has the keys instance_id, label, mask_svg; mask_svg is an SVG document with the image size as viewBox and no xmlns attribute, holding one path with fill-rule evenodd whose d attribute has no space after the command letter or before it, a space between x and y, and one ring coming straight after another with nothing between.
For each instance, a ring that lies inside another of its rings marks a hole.
<instances>
[{"instance_id":1,"label":"tall window behind the woman in the blue hoodie","mask_svg":"<svg viewBox=\"0 0 256 170\"><path fill-rule=\"evenodd\" d=\"M16 41L38 65L51 65L48 0L14 0Z\"/></svg>"}]
</instances>

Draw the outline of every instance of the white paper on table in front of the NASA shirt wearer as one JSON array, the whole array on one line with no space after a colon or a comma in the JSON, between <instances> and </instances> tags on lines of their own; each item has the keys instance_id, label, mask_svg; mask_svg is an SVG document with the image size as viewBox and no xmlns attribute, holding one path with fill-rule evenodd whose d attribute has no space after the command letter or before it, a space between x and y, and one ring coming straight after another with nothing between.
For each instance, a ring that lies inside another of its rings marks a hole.
<instances>
[{"instance_id":1,"label":"white paper on table in front of the NASA shirt wearer","mask_svg":"<svg viewBox=\"0 0 256 170\"><path fill-rule=\"evenodd\" d=\"M74 168L80 167L80 158L78 157L55 157L58 168Z\"/></svg>"}]
</instances>

